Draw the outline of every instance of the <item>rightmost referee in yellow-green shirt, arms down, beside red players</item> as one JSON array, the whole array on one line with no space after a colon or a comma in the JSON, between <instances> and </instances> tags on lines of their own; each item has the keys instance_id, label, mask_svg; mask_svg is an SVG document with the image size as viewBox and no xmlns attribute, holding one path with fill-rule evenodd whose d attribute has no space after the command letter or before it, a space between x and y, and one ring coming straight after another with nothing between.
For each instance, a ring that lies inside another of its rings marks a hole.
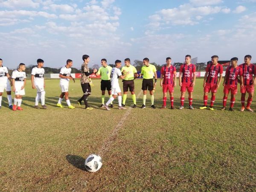
<instances>
[{"instance_id":1,"label":"rightmost referee in yellow-green shirt, arms down, beside red players","mask_svg":"<svg viewBox=\"0 0 256 192\"><path fill-rule=\"evenodd\" d=\"M143 59L144 66L141 68L141 75L143 75L142 90L143 90L143 105L142 109L146 107L147 90L149 90L151 98L151 108L155 109L154 106L154 89L157 86L157 69L154 65L149 64L149 59ZM153 82L154 78L154 82Z\"/></svg>"}]
</instances>

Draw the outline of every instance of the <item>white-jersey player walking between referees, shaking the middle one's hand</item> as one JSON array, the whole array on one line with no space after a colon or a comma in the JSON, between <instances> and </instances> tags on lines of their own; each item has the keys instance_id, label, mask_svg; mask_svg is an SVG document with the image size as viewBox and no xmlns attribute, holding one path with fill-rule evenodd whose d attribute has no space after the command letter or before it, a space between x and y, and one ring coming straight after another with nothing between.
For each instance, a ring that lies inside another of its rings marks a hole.
<instances>
[{"instance_id":1,"label":"white-jersey player walking between referees, shaking the middle one's hand","mask_svg":"<svg viewBox=\"0 0 256 192\"><path fill-rule=\"evenodd\" d=\"M110 108L108 108L108 105L113 102L114 99L116 99L116 96L118 96L118 109L126 109L124 107L122 107L122 92L118 83L118 78L120 77L121 79L124 79L128 74L129 71L127 73L125 73L125 70L123 70L123 73L125 73L125 75L123 76L121 71L120 71L120 67L122 65L120 60L116 60L115 61L116 67L113 67L113 69L111 70L111 93L113 95L113 97L108 99L108 102L106 102L106 104L103 106L106 110L110 110Z\"/></svg>"}]
</instances>

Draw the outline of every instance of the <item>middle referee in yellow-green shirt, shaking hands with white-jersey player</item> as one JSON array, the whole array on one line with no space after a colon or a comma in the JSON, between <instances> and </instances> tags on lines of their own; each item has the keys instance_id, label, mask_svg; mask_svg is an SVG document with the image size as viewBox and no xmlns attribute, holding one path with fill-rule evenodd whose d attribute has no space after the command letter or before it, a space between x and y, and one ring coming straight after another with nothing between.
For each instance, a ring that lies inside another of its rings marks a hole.
<instances>
[{"instance_id":1,"label":"middle referee in yellow-green shirt, shaking hands with white-jersey player","mask_svg":"<svg viewBox=\"0 0 256 192\"><path fill-rule=\"evenodd\" d=\"M125 101L127 98L127 92L128 88L131 92L132 100L134 102L133 108L136 108L136 95L135 95L135 89L134 89L134 79L136 79L137 75L137 70L134 66L131 65L131 61L129 58L125 59L125 66L122 67L121 72L123 75L125 75L129 71L129 74L125 76L125 79L123 79L123 90L124 90L124 95L123 95L123 100L122 100L122 106L125 107Z\"/></svg>"}]
</instances>

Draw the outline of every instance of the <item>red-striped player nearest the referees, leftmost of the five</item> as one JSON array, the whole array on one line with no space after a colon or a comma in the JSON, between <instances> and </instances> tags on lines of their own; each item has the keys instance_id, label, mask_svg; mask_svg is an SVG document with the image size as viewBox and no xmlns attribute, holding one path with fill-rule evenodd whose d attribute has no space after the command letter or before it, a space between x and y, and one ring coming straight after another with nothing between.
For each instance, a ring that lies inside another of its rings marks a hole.
<instances>
[{"instance_id":1,"label":"red-striped player nearest the referees, leftmost of the five","mask_svg":"<svg viewBox=\"0 0 256 192\"><path fill-rule=\"evenodd\" d=\"M160 86L163 87L163 106L161 109L166 108L167 91L169 90L171 109L174 109L173 91L176 87L176 68L172 65L172 59L166 58L166 65L161 68Z\"/></svg>"}]
</instances>

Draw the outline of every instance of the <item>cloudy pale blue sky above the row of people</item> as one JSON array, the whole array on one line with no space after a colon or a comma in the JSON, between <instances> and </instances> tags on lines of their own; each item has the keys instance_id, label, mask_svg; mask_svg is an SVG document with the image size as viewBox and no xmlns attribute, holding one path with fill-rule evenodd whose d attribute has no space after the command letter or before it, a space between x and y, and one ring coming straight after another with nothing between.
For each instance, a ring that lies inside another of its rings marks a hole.
<instances>
[{"instance_id":1,"label":"cloudy pale blue sky above the row of people","mask_svg":"<svg viewBox=\"0 0 256 192\"><path fill-rule=\"evenodd\" d=\"M164 64L185 55L207 62L252 55L256 62L256 0L0 0L0 58L73 67L106 58Z\"/></svg>"}]
</instances>

